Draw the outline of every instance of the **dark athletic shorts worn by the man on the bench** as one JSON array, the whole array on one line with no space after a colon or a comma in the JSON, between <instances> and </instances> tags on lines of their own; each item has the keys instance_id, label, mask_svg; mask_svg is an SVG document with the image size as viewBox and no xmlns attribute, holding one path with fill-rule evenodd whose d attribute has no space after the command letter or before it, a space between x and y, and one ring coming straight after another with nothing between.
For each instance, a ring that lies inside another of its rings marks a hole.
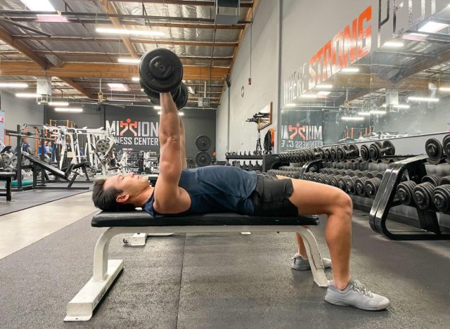
<instances>
[{"instance_id":1,"label":"dark athletic shorts worn by the man on the bench","mask_svg":"<svg viewBox=\"0 0 450 329\"><path fill-rule=\"evenodd\" d=\"M288 199L293 194L293 182L290 179L278 179L276 176L261 172L250 199L255 205L255 216L298 216L298 209Z\"/></svg>"}]
</instances>

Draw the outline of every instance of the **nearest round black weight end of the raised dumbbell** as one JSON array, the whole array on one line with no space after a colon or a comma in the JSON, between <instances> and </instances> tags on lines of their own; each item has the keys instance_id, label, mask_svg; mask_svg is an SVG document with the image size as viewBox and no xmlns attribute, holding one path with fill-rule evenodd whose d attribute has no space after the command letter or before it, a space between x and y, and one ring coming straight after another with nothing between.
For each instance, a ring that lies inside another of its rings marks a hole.
<instances>
[{"instance_id":1,"label":"nearest round black weight end of the raised dumbbell","mask_svg":"<svg viewBox=\"0 0 450 329\"><path fill-rule=\"evenodd\" d=\"M183 64L169 49L158 48L141 57L139 77L144 89L165 93L176 89L183 78Z\"/></svg>"}]
</instances>

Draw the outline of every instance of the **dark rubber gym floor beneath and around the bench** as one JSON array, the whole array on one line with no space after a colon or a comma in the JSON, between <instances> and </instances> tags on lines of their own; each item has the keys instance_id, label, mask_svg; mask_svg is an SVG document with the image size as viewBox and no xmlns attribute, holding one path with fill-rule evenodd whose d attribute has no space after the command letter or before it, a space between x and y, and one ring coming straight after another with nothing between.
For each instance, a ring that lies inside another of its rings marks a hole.
<instances>
[{"instance_id":1,"label":"dark rubber gym floor beneath and around the bench","mask_svg":"<svg viewBox=\"0 0 450 329\"><path fill-rule=\"evenodd\" d=\"M64 202L71 198L80 195ZM34 209L51 212L53 203ZM103 231L92 228L92 216L85 214L0 259L0 328L450 325L450 241L387 240L371 230L367 214L358 210L354 212L352 277L390 299L385 311L325 302L326 289L312 281L309 271L290 269L293 233L176 234L148 238L145 247L129 247L122 242L125 236L117 236L110 255L124 258L124 271L91 321L64 323L66 304L92 276L94 245ZM0 217L0 225L4 218ZM327 257L325 224L323 217L311 231ZM27 226L17 229L25 234ZM0 242L0 247L5 246Z\"/></svg>"}]
</instances>

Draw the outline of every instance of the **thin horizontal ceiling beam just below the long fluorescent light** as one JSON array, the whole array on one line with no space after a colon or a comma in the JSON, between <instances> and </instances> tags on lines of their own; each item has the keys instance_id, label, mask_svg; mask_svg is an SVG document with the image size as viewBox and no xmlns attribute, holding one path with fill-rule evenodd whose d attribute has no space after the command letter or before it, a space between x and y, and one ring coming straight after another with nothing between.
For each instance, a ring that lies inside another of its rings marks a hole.
<instances>
[{"instance_id":1,"label":"thin horizontal ceiling beam just below the long fluorescent light","mask_svg":"<svg viewBox=\"0 0 450 329\"><path fill-rule=\"evenodd\" d=\"M121 42L119 38L91 38L91 37L41 37L28 35L15 35L14 39L39 40L39 41L92 41L92 42ZM238 42L209 42L209 41L185 41L185 40L150 40L150 39L130 39L134 44L169 44L172 46L207 46L207 47L236 47ZM136 53L136 52L135 52Z\"/></svg>"}]
</instances>

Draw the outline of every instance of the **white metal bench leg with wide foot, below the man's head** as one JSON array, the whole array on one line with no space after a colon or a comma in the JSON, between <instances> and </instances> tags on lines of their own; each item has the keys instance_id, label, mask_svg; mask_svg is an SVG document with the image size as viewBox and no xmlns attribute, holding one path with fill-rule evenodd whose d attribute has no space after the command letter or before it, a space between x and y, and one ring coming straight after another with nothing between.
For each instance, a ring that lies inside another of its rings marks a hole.
<instances>
[{"instance_id":1,"label":"white metal bench leg with wide foot, below the man's head","mask_svg":"<svg viewBox=\"0 0 450 329\"><path fill-rule=\"evenodd\" d=\"M108 247L111 238L118 234L115 228L108 228L97 240L94 250L94 276L68 303L64 321L89 321L94 309L113 285L115 278L124 268L123 259L109 259Z\"/></svg>"}]
</instances>

